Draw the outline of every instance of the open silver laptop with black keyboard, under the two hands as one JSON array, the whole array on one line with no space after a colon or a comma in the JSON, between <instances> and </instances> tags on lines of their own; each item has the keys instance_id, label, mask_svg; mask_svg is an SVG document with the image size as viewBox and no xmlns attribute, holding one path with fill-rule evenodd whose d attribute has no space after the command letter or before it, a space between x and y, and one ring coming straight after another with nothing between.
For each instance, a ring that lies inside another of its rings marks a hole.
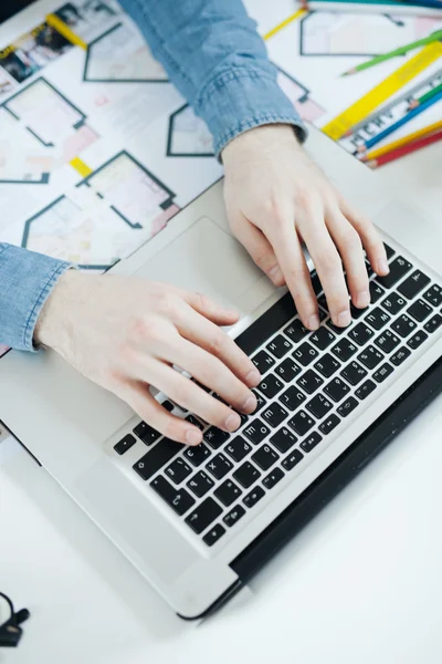
<instances>
[{"instance_id":1,"label":"open silver laptop with black keyboard, under the two hands","mask_svg":"<svg viewBox=\"0 0 442 664\"><path fill-rule=\"evenodd\" d=\"M383 238L390 274L377 278L367 264L371 305L355 310L345 331L330 324L315 273L322 325L303 328L291 295L229 234L221 183L112 269L206 292L243 313L229 333L263 378L257 412L240 430L197 418L204 442L186 448L54 353L11 351L0 361L4 424L187 619L246 584L442 390L442 266L433 251L442 227L378 196L373 175L319 132L307 148L354 203L376 204L381 227L401 228Z\"/></svg>"}]
</instances>

